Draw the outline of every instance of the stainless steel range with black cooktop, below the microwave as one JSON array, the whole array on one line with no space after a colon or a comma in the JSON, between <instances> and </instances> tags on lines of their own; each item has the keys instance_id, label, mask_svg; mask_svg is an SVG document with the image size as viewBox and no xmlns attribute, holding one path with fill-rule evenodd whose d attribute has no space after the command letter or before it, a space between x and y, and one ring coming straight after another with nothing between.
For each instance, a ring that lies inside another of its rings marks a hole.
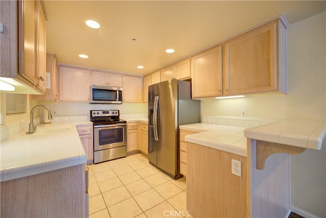
<instances>
[{"instance_id":1,"label":"stainless steel range with black cooktop, below the microwave","mask_svg":"<svg viewBox=\"0 0 326 218\"><path fill-rule=\"evenodd\" d=\"M94 163L127 156L127 122L119 110L91 110Z\"/></svg>"}]
</instances>

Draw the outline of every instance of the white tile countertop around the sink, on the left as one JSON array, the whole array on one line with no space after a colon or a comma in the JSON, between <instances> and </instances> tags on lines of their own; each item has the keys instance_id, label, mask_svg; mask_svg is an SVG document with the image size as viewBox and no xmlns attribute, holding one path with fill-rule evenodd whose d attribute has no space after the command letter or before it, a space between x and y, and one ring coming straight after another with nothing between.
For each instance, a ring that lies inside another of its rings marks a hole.
<instances>
[{"instance_id":1,"label":"white tile countertop around the sink, on the left","mask_svg":"<svg viewBox=\"0 0 326 218\"><path fill-rule=\"evenodd\" d=\"M87 156L75 125L37 126L33 134L21 132L1 142L1 182L83 164Z\"/></svg>"}]
</instances>

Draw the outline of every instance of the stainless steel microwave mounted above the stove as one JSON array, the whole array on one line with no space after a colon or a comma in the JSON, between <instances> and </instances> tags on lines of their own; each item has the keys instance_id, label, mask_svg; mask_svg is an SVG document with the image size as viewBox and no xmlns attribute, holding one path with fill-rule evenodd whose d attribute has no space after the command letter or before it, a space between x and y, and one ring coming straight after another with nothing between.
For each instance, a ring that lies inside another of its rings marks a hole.
<instances>
[{"instance_id":1,"label":"stainless steel microwave mounted above the stove","mask_svg":"<svg viewBox=\"0 0 326 218\"><path fill-rule=\"evenodd\" d=\"M91 86L91 104L122 104L122 88Z\"/></svg>"}]
</instances>

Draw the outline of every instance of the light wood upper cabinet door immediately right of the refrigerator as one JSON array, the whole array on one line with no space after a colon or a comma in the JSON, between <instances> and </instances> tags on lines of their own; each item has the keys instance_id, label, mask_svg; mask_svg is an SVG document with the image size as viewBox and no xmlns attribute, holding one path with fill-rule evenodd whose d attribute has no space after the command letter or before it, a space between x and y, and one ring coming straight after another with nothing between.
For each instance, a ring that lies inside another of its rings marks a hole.
<instances>
[{"instance_id":1,"label":"light wood upper cabinet door immediately right of the refrigerator","mask_svg":"<svg viewBox=\"0 0 326 218\"><path fill-rule=\"evenodd\" d=\"M222 46L215 46L191 59L193 99L221 95Z\"/></svg>"}]
</instances>

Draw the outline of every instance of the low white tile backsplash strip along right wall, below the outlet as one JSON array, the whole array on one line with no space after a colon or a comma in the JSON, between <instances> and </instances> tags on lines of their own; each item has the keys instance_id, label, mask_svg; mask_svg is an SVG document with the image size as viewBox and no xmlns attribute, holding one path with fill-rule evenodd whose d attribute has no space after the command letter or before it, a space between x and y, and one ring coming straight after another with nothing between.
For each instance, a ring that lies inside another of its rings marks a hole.
<instances>
[{"instance_id":1,"label":"low white tile backsplash strip along right wall, below the outlet","mask_svg":"<svg viewBox=\"0 0 326 218\"><path fill-rule=\"evenodd\" d=\"M236 116L202 116L202 123L217 124L234 127L255 127L264 124L278 122L280 119L267 119L256 117L236 117Z\"/></svg>"}]
</instances>

